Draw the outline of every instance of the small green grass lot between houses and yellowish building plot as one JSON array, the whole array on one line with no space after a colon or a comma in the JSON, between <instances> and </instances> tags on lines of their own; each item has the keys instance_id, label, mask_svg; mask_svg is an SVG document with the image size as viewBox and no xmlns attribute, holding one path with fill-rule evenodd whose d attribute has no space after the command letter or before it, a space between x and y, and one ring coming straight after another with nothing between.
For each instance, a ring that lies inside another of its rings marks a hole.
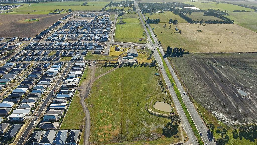
<instances>
[{"instance_id":1,"label":"small green grass lot between houses and yellowish building plot","mask_svg":"<svg viewBox=\"0 0 257 145\"><path fill-rule=\"evenodd\" d=\"M87 53L87 56L84 58L85 61L116 61L117 56L108 56L103 54L93 54L92 51Z\"/></svg>"}]
</instances>

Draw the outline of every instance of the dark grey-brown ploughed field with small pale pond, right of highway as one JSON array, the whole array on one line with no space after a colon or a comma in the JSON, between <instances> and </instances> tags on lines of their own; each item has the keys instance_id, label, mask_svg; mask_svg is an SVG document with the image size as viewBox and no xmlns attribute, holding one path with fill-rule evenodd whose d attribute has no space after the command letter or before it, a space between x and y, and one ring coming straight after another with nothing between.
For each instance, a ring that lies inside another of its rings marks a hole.
<instances>
[{"instance_id":1,"label":"dark grey-brown ploughed field with small pale pond, right of highway","mask_svg":"<svg viewBox=\"0 0 257 145\"><path fill-rule=\"evenodd\" d=\"M219 120L257 123L256 53L188 54L171 61L191 96Z\"/></svg>"}]
</instances>

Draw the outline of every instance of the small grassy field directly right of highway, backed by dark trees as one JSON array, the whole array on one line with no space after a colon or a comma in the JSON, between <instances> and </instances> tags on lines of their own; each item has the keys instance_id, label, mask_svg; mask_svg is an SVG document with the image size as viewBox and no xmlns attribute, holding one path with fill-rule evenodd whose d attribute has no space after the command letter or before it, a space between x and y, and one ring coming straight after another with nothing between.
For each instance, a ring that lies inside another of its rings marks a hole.
<instances>
[{"instance_id":1,"label":"small grassy field directly right of highway, backed by dark trees","mask_svg":"<svg viewBox=\"0 0 257 145\"><path fill-rule=\"evenodd\" d=\"M184 19L182 19L179 15L174 14L170 11L164 11L163 13L153 13L150 15L149 13L143 14L146 19L149 17L150 19L160 19L159 23L168 23L170 19L177 20L178 23L187 23Z\"/></svg>"}]
</instances>

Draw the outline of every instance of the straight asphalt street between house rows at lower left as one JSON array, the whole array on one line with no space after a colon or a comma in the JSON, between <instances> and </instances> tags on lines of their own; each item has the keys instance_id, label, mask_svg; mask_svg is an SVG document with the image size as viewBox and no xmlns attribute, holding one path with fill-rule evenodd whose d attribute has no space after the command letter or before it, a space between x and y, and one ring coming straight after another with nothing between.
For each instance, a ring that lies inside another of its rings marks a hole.
<instances>
[{"instance_id":1,"label":"straight asphalt street between house rows at lower left","mask_svg":"<svg viewBox=\"0 0 257 145\"><path fill-rule=\"evenodd\" d=\"M63 72L66 72L70 65L72 63L69 63L66 67L66 69ZM60 84L60 82L63 80L63 76L65 75L65 73L62 73L62 75L60 76L59 80L57 81L57 83L54 85L53 89L51 90L51 92L49 93L49 95L47 96L47 98L45 99L45 101L43 102L42 106L39 108L38 110L38 115L34 116L33 119L30 121L29 125L27 126L26 130L23 132L23 134L21 135L20 140L17 142L16 145L22 145L23 142L25 141L26 137L29 135L29 132L31 131L32 127L33 127L33 122L35 121L35 118L39 117L40 114L42 113L43 109L45 108L45 106L47 105L48 101L50 100L50 98L52 97L53 91L58 87L58 85ZM40 118L39 118L40 119Z\"/></svg>"}]
</instances>

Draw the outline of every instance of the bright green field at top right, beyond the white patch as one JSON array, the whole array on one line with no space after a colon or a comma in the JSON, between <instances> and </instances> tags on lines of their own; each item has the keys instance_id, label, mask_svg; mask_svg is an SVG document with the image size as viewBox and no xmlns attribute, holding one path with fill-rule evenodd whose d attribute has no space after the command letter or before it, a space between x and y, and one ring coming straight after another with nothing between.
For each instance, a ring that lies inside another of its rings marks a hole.
<instances>
[{"instance_id":1,"label":"bright green field at top right, beyond the white patch","mask_svg":"<svg viewBox=\"0 0 257 145\"><path fill-rule=\"evenodd\" d=\"M246 8L238 5L233 4L226 4L226 3L219 3L216 4L216 2L209 2L209 3L201 3L201 2L184 2L186 4L195 5L197 8L200 8L201 10L208 10L208 9L214 9L214 10L221 10L221 11L228 11L233 12L234 10L246 10L246 11L254 11L251 8Z\"/></svg>"}]
</instances>

